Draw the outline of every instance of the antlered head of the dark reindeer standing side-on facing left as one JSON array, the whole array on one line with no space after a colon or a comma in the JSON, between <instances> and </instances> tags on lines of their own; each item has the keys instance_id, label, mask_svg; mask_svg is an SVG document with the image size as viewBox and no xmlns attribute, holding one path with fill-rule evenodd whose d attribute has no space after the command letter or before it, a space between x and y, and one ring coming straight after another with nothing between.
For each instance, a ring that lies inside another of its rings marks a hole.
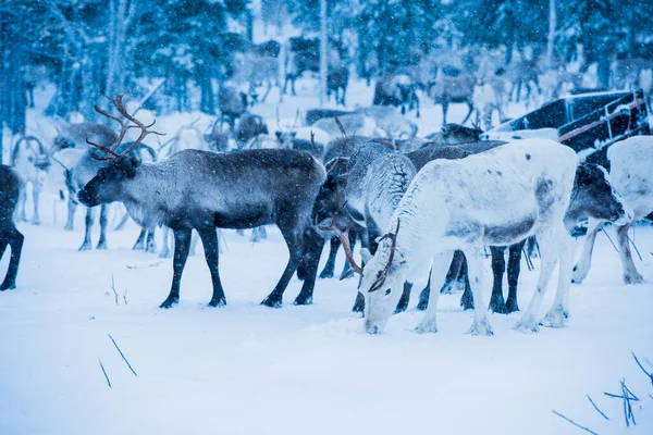
<instances>
[{"instance_id":1,"label":"antlered head of the dark reindeer standing side-on facing left","mask_svg":"<svg viewBox=\"0 0 653 435\"><path fill-rule=\"evenodd\" d=\"M125 182L133 179L136 176L136 170L140 164L140 160L131 154L131 152L138 147L138 145L147 135L162 135L161 133L148 130L148 128L151 127L156 121L146 126L140 121L130 115L123 108L122 98L123 96L120 95L115 99L109 98L109 100L113 103L115 110L133 124L126 125L120 117L113 116L99 107L94 105L94 109L98 113L116 121L121 126L121 130L118 139L107 147L86 139L88 145L96 147L102 152L102 154L97 154L94 151L90 151L90 156L96 160L109 162L109 164L102 167L98 174L93 177L93 179L88 182L88 184L84 186L84 188L77 194L79 202L86 207L95 207L101 203L122 200ZM138 138L132 144L124 145L121 149L120 146L125 133L127 133L127 129L136 127L140 128L140 135Z\"/></svg>"}]
</instances>

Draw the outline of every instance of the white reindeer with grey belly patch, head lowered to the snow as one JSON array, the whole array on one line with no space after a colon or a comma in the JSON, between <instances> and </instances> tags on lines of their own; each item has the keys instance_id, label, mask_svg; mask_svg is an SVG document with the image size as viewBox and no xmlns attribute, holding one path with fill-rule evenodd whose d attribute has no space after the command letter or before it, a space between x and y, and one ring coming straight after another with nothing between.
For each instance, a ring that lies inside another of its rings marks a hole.
<instances>
[{"instance_id":1,"label":"white reindeer with grey belly patch, head lowered to the snow","mask_svg":"<svg viewBox=\"0 0 653 435\"><path fill-rule=\"evenodd\" d=\"M426 272L431 260L432 288L439 288L454 251L460 249L476 301L469 333L493 334L482 293L483 246L510 245L531 235L540 243L540 277L516 328L539 331L538 312L558 260L557 295L544 322L564 326L574 260L574 240L564 215L577 164L574 150L546 139L514 141L466 159L427 164L404 195L377 253L366 261L360 286L366 297L366 331L383 331L406 277ZM438 296L439 291L431 291L417 332L438 331Z\"/></svg>"}]
</instances>

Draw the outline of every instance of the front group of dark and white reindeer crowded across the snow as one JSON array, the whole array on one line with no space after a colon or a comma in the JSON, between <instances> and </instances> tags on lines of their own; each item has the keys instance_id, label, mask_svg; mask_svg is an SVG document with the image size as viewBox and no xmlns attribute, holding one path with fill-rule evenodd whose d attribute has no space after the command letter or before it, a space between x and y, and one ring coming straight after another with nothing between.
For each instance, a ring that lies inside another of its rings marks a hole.
<instances>
[{"instance_id":1,"label":"front group of dark and white reindeer crowded across the snow","mask_svg":"<svg viewBox=\"0 0 653 435\"><path fill-rule=\"evenodd\" d=\"M414 91L410 86L402 89L408 96ZM232 101L242 102L243 97ZM97 105L96 111L116 122L119 134L99 124L66 124L58 127L51 147L36 137L22 137L12 152L13 167L0 166L0 254L11 248L0 289L15 287L23 235L14 221L26 219L25 184L33 186L33 221L38 223L38 195L46 175L54 173L62 198L69 200L66 228L72 229L77 203L88 210L81 250L93 246L90 227L97 207L101 226L97 248L107 248L107 210L113 202L122 203L143 228L135 249L155 251L156 228L172 231L173 279L161 308L178 302L194 231L211 274L209 306L220 307L226 297L218 268L217 228L271 224L286 243L288 261L261 303L281 307L295 274L304 283L294 303L311 303L320 257L329 241L329 260L319 276L334 275L342 247L347 258L342 277L359 275L353 309L364 313L370 334L381 333L393 312L406 310L411 283L429 274L419 296L418 309L426 313L417 332L438 331L438 297L461 283L460 303L475 310L469 332L491 335L488 307L497 313L519 310L521 252L532 237L540 252L539 279L516 328L562 327L569 314L569 287L587 275L596 232L604 222L617 228L624 281L643 281L632 262L628 228L653 211L653 174L646 164L653 157L652 137L614 145L608 151L608 174L602 166L580 162L570 148L551 139L480 140L482 130L456 124L418 138L417 127L398 111L378 104L356 111L309 110L301 127L297 127L297 113L291 130L278 125L275 137L269 136L260 116L241 111L231 120L219 119L204 135L187 126L156 150L144 144L146 137L160 135L152 130L155 123L146 125L131 114L122 96L110 100L116 115ZM226 130L238 133L223 140L224 124L232 122ZM125 140L134 129L137 137ZM356 134L347 135L350 132ZM323 139L318 140L320 135ZM584 219L589 219L588 237L574 266L570 232ZM354 256L356 243L361 246L360 265ZM167 244L164 237L164 254ZM483 299L485 247L492 252L494 275L489 306ZM504 299L508 247L509 291ZM556 265L555 301L540 320L542 298Z\"/></svg>"}]
</instances>

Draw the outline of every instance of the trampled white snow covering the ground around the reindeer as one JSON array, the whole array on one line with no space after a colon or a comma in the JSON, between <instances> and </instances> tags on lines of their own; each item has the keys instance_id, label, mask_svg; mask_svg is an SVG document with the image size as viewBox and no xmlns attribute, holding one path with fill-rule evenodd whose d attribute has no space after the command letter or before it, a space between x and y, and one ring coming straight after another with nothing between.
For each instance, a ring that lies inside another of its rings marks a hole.
<instances>
[{"instance_id":1,"label":"trampled white snow covering the ground around the reindeer","mask_svg":"<svg viewBox=\"0 0 653 435\"><path fill-rule=\"evenodd\" d=\"M281 107L283 124L292 125L297 109L317 105L315 86L310 79L298 83L299 96ZM371 94L353 84L349 107L369 104ZM271 129L276 101L273 92L255 109ZM52 135L38 110L29 132ZM456 104L449 121L464 113ZM522 113L525 108L510 110L513 116ZM157 125L174 134L196 116L161 116ZM422 117L409 117L420 136L442 123L441 109L424 100ZM320 279L309 307L292 306L300 287L293 279L282 309L259 306L287 259L275 228L260 244L223 232L225 308L206 307L210 277L198 247L184 273L180 306L161 310L171 260L131 251L135 225L110 232L107 251L77 252L83 213L77 229L64 232L65 206L53 198L41 199L44 225L20 225L26 239L19 287L0 294L0 434L581 433L552 410L601 434L652 432L653 386L630 351L653 371L653 286L621 283L617 254L604 235L588 278L572 287L564 330L523 335L512 330L519 313L492 314L495 336L472 337L465 334L471 313L459 309L455 294L440 299L438 334L411 332L422 315L414 301L383 335L369 336L349 311L356 279ZM96 243L97 237L96 227ZM636 263L651 283L653 227L637 227L636 243L643 257ZM0 277L8 260L0 261ZM340 257L336 271L343 262ZM526 264L522 271L525 308L537 273ZM489 261L486 275L489 300ZM550 288L545 308L553 293ZM603 395L617 393L623 377L641 399L633 410L638 425L628 431L621 401Z\"/></svg>"}]
</instances>

